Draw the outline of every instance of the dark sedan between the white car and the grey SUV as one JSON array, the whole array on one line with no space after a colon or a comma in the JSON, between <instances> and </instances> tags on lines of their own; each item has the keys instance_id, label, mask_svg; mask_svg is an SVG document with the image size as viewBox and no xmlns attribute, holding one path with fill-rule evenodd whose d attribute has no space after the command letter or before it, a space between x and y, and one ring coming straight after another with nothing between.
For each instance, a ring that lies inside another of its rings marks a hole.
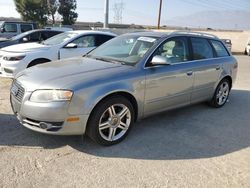
<instances>
[{"instance_id":1,"label":"dark sedan between the white car and the grey SUV","mask_svg":"<svg viewBox=\"0 0 250 188\"><path fill-rule=\"evenodd\" d=\"M0 48L11 46L14 44L21 44L27 42L41 42L51 38L55 35L62 33L62 31L47 30L47 29L35 29L24 32L10 39L0 40Z\"/></svg>"}]
</instances>

